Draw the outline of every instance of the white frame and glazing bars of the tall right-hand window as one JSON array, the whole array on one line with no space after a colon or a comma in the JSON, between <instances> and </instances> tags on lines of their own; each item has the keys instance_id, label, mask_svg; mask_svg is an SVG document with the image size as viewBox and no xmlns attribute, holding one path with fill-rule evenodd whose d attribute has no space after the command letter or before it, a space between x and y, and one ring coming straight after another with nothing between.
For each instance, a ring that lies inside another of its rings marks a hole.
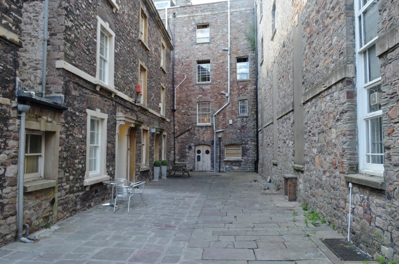
<instances>
[{"instance_id":1,"label":"white frame and glazing bars of the tall right-hand window","mask_svg":"<svg viewBox=\"0 0 399 264\"><path fill-rule=\"evenodd\" d=\"M370 6L372 5L374 0L367 2L359 10L359 1L355 1L355 32L356 32L356 86L357 86L357 112L358 112L358 135L359 135L359 172L363 174L375 175L375 176L383 176L384 174L384 164L374 164L366 162L366 121L371 118L382 117L382 110L367 113L368 102L367 100L367 89L375 87L381 84L381 77L376 78L375 80L371 80L368 83L364 81L364 56L366 56L365 52L367 49L372 47L378 39L378 36L371 40L369 43L366 43L362 47L360 47L360 35L359 35L359 16ZM363 32L364 34L364 32Z\"/></svg>"}]
</instances>

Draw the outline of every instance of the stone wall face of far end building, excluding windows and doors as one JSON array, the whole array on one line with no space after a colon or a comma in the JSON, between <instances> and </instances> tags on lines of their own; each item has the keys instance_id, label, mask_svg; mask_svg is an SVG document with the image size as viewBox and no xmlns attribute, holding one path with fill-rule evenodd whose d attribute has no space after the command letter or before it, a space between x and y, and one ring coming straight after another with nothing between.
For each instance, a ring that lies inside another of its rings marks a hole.
<instances>
[{"instance_id":1,"label":"stone wall face of far end building, excluding windows and doors","mask_svg":"<svg viewBox=\"0 0 399 264\"><path fill-rule=\"evenodd\" d=\"M200 5L190 5L190 1L177 1L179 7L168 8L168 26L173 34L173 14L175 13L175 86L184 77L186 80L176 90L175 134L176 162L189 162L195 169L196 146L210 147L210 170L213 171L213 114L227 103L227 51L228 13L227 1ZM221 133L216 144L216 170L253 171L256 159L256 100L255 100L255 54L250 46L247 31L253 28L253 2L248 0L231 1L231 57L230 57L230 104L216 116L216 130ZM165 10L158 10L165 21ZM197 43L196 26L209 24L209 42ZM249 79L236 80L236 58L249 57ZM197 83L197 61L210 60L210 83ZM239 100L248 100L248 115L239 115ZM208 125L197 125L197 103L210 102ZM229 124L229 120L232 124ZM187 131L188 130L188 131ZM187 131L187 132L186 132ZM186 132L186 133L185 133ZM181 136L180 136L181 134ZM172 144L173 142L171 142ZM241 146L240 160L225 160L225 146ZM173 154L173 152L172 152ZM221 159L219 160L219 156ZM201 160L202 161L202 160Z\"/></svg>"}]
</instances>

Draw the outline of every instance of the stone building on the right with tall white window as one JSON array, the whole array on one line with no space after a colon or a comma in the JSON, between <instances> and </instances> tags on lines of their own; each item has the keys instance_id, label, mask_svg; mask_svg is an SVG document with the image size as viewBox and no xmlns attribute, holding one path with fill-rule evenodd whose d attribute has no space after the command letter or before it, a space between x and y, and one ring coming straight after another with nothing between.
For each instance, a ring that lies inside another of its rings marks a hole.
<instances>
[{"instance_id":1,"label":"stone building on the right with tall white window","mask_svg":"<svg viewBox=\"0 0 399 264\"><path fill-rule=\"evenodd\" d=\"M259 173L289 180L290 199L344 234L350 221L357 246L395 261L398 10L389 0L256 1Z\"/></svg>"}]
</instances>

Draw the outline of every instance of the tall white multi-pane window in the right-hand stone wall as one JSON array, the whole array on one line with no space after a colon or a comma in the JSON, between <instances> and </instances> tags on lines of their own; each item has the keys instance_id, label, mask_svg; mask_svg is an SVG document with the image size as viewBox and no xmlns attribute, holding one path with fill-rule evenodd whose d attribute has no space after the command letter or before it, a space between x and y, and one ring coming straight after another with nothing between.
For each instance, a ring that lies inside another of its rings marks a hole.
<instances>
[{"instance_id":1,"label":"tall white multi-pane window in the right-hand stone wall","mask_svg":"<svg viewBox=\"0 0 399 264\"><path fill-rule=\"evenodd\" d=\"M383 176L384 146L381 110L381 69L376 55L379 12L377 1L355 1L359 169Z\"/></svg>"}]
</instances>

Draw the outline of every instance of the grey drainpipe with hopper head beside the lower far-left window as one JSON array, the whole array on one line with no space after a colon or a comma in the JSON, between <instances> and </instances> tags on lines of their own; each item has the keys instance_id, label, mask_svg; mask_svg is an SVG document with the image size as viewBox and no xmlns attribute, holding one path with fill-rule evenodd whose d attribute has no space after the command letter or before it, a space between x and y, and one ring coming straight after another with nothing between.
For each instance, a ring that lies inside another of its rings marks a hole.
<instances>
[{"instance_id":1,"label":"grey drainpipe with hopper head beside the lower far-left window","mask_svg":"<svg viewBox=\"0 0 399 264\"><path fill-rule=\"evenodd\" d=\"M18 105L18 111L21 112L21 126L19 128L19 149L18 149L18 239L24 243L33 243L32 240L23 237L23 169L25 156L25 113L29 111L30 106ZM27 225L27 224L26 224ZM28 228L27 228L28 230Z\"/></svg>"}]
</instances>

